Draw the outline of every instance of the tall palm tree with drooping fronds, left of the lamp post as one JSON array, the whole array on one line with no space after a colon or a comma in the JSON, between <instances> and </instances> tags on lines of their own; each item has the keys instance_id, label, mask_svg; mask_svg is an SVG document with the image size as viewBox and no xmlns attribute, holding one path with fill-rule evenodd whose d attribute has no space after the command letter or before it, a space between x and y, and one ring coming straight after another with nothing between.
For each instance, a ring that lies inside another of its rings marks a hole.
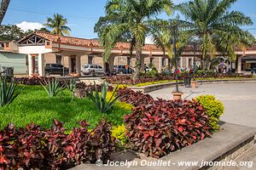
<instances>
[{"instance_id":1,"label":"tall palm tree with drooping fronds, left of the lamp post","mask_svg":"<svg viewBox=\"0 0 256 170\"><path fill-rule=\"evenodd\" d=\"M137 74L142 71L142 49L148 35L149 22L152 17L166 12L171 14L170 0L108 0L105 7L107 18L115 16L118 22L102 27L100 40L105 48L103 58L108 60L111 49L124 34L131 34L131 51L136 48Z\"/></svg>"}]
</instances>

